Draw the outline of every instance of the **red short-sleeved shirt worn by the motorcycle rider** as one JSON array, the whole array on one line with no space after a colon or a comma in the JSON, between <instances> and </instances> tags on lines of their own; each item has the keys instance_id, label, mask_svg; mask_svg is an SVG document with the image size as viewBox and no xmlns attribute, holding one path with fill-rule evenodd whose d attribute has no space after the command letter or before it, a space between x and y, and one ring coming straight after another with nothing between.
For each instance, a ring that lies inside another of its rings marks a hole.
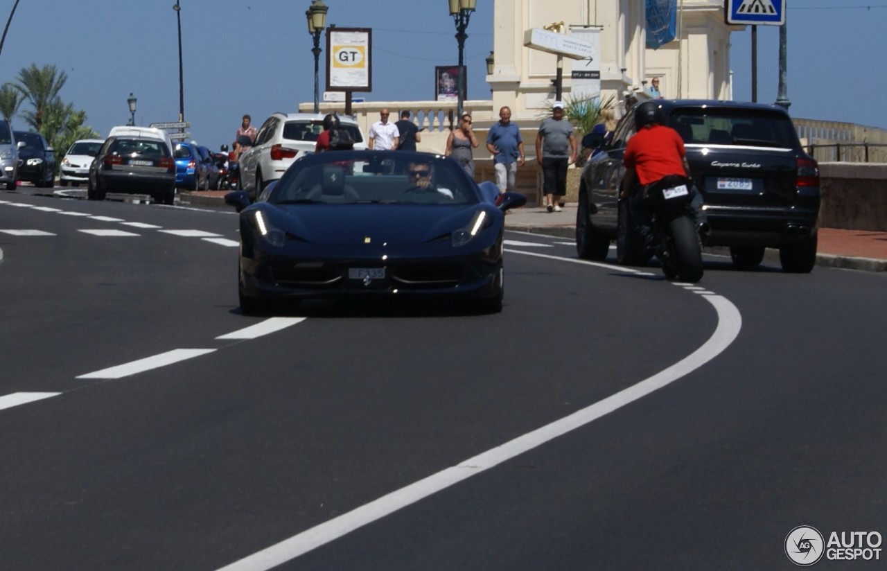
<instances>
[{"instance_id":1,"label":"red short-sleeved shirt worn by the motorcycle rider","mask_svg":"<svg viewBox=\"0 0 887 571\"><path fill-rule=\"evenodd\" d=\"M640 184L650 184L669 175L687 176L683 162L686 153L678 131L654 125L628 139L622 161L625 168L634 168Z\"/></svg>"}]
</instances>

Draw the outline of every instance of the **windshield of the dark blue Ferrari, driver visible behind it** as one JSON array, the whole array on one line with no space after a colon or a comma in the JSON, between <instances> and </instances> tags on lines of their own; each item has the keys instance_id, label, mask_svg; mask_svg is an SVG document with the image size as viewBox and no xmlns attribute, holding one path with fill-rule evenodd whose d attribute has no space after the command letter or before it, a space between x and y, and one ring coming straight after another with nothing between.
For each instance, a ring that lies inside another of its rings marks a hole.
<instances>
[{"instance_id":1,"label":"windshield of the dark blue Ferrari, driver visible behind it","mask_svg":"<svg viewBox=\"0 0 887 571\"><path fill-rule=\"evenodd\" d=\"M273 204L471 204L475 184L459 164L422 153L331 152L296 161Z\"/></svg>"}]
</instances>

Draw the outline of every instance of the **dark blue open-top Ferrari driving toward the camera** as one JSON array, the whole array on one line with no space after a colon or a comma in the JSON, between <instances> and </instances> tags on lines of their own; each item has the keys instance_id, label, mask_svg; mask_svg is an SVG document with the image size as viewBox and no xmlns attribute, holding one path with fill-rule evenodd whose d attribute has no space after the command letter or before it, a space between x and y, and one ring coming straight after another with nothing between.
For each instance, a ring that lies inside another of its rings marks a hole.
<instances>
[{"instance_id":1,"label":"dark blue open-top Ferrari driving toward the camera","mask_svg":"<svg viewBox=\"0 0 887 571\"><path fill-rule=\"evenodd\" d=\"M336 151L295 160L254 204L247 191L228 193L240 213L241 309L457 296L500 311L505 210L526 198L484 185L437 155Z\"/></svg>"}]
</instances>

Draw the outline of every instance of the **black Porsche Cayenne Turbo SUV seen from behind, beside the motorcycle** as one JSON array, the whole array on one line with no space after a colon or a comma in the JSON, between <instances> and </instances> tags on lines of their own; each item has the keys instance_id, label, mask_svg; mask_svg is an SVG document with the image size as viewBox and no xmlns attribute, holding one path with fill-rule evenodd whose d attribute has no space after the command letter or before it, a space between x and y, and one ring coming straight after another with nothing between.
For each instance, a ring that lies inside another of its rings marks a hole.
<instances>
[{"instance_id":1,"label":"black Porsche Cayenne Turbo SUV seen from behind, beside the motorcycle","mask_svg":"<svg viewBox=\"0 0 887 571\"><path fill-rule=\"evenodd\" d=\"M657 100L666 125L687 148L690 176L703 194L710 246L729 246L736 265L757 266L765 247L779 248L783 270L805 273L816 262L819 167L779 106L710 100ZM596 153L579 185L576 240L581 257L607 257L611 239L622 263L643 263L627 203L618 199L625 144L635 132L629 112ZM641 250L642 252L642 250Z\"/></svg>"}]
</instances>

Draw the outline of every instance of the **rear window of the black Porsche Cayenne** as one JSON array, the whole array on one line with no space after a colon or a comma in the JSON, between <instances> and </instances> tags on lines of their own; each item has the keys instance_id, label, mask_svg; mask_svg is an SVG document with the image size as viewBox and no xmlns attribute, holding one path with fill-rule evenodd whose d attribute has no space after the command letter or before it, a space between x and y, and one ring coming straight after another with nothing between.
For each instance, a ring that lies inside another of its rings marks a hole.
<instances>
[{"instance_id":1,"label":"rear window of the black Porsche Cayenne","mask_svg":"<svg viewBox=\"0 0 887 571\"><path fill-rule=\"evenodd\" d=\"M688 145L798 146L794 125L781 113L687 107L673 109L668 124Z\"/></svg>"}]
</instances>

